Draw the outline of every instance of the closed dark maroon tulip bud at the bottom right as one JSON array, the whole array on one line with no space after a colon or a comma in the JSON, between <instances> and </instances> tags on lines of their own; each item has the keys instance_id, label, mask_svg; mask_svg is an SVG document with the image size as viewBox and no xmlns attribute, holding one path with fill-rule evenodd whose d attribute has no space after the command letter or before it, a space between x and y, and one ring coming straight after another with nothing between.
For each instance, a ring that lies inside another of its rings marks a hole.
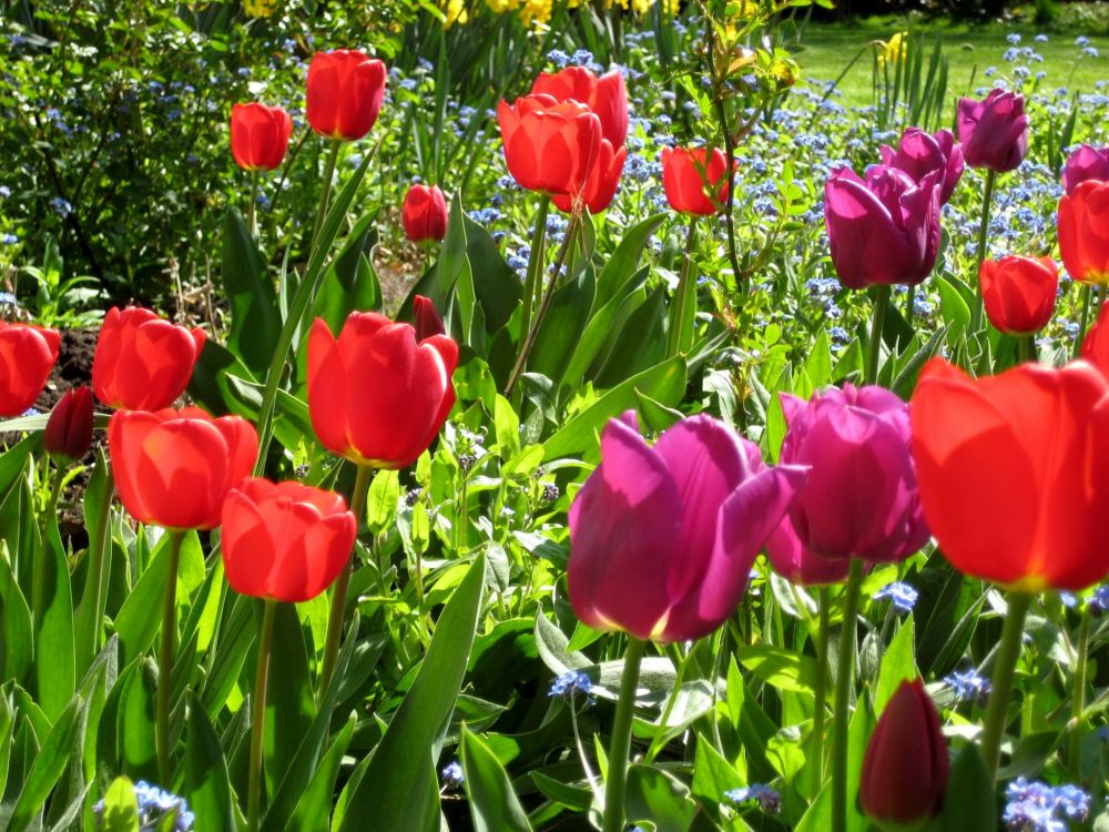
<instances>
[{"instance_id":1,"label":"closed dark maroon tulip bud at the bottom right","mask_svg":"<svg viewBox=\"0 0 1109 832\"><path fill-rule=\"evenodd\" d=\"M866 744L858 783L863 812L898 832L919 829L943 806L949 771L936 706L919 679L902 682Z\"/></svg>"}]
</instances>

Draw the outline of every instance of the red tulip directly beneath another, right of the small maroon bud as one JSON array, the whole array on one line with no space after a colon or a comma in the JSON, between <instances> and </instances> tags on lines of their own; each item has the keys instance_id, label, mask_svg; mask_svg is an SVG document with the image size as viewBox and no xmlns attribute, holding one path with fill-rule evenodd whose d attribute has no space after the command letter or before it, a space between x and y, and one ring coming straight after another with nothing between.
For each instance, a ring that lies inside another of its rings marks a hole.
<instances>
[{"instance_id":1,"label":"red tulip directly beneath another, right of the small maroon bud","mask_svg":"<svg viewBox=\"0 0 1109 832\"><path fill-rule=\"evenodd\" d=\"M214 419L196 407L119 410L108 423L108 447L132 517L167 529L211 529L227 491L254 467L258 435L238 416Z\"/></svg>"}]
</instances>

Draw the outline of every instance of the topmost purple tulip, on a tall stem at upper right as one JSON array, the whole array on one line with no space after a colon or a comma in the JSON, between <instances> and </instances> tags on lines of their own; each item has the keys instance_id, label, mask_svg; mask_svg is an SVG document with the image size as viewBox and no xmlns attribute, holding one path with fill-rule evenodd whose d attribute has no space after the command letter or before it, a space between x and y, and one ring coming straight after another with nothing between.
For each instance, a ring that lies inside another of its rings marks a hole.
<instances>
[{"instance_id":1,"label":"topmost purple tulip, on a tall stem at upper right","mask_svg":"<svg viewBox=\"0 0 1109 832\"><path fill-rule=\"evenodd\" d=\"M985 101L959 99L959 141L971 168L998 173L1016 169L1028 152L1025 97L990 90Z\"/></svg>"}]
</instances>

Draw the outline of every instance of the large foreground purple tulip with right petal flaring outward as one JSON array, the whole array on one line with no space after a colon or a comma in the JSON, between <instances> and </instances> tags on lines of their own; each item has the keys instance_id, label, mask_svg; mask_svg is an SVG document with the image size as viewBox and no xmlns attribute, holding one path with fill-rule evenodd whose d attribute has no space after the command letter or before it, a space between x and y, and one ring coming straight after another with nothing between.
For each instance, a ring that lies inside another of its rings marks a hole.
<instances>
[{"instance_id":1,"label":"large foreground purple tulip with right petal flaring outward","mask_svg":"<svg viewBox=\"0 0 1109 832\"><path fill-rule=\"evenodd\" d=\"M804 478L796 466L766 467L708 416L679 422L653 448L631 412L610 420L601 464L570 507L574 613L663 642L712 632Z\"/></svg>"}]
</instances>

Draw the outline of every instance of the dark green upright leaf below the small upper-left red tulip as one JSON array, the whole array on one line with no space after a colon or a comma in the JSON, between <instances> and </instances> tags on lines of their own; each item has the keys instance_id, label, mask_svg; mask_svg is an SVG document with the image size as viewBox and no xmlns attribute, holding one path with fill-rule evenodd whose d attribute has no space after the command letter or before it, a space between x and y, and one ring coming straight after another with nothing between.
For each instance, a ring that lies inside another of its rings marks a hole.
<instances>
[{"instance_id":1,"label":"dark green upright leaf below the small upper-left red tulip","mask_svg":"<svg viewBox=\"0 0 1109 832\"><path fill-rule=\"evenodd\" d=\"M277 293L246 223L231 209L223 220L223 287L231 306L227 348L263 378L281 333Z\"/></svg>"}]
</instances>

